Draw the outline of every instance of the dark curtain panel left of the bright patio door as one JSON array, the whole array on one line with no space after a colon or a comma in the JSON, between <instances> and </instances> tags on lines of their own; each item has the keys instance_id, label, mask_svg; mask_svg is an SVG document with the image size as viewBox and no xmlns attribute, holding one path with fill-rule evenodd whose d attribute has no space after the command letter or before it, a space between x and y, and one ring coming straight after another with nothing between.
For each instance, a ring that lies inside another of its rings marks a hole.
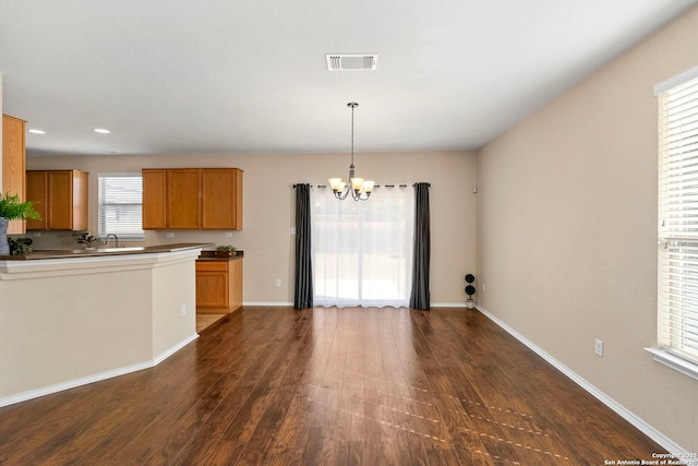
<instances>
[{"instance_id":1,"label":"dark curtain panel left of the bright patio door","mask_svg":"<svg viewBox=\"0 0 698 466\"><path fill-rule=\"evenodd\" d=\"M313 307L313 266L310 236L310 184L296 184L294 309Z\"/></svg>"}]
</instances>

